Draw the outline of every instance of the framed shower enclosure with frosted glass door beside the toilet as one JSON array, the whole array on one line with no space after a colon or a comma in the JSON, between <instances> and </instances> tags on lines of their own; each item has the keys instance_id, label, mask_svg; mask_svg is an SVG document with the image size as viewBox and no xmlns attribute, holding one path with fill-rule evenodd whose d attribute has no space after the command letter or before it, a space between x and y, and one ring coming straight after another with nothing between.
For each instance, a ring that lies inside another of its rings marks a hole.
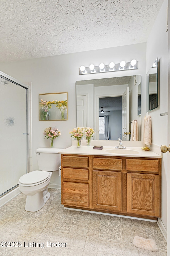
<instances>
[{"instance_id":1,"label":"framed shower enclosure with frosted glass door beside the toilet","mask_svg":"<svg viewBox=\"0 0 170 256\"><path fill-rule=\"evenodd\" d=\"M28 87L0 72L0 197L28 170Z\"/></svg>"}]
</instances>

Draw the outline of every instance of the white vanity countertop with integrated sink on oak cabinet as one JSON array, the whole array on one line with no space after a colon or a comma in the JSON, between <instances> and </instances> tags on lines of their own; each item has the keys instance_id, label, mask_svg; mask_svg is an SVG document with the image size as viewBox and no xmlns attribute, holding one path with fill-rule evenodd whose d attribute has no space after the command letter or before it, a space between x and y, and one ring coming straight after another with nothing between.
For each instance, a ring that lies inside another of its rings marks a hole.
<instances>
[{"instance_id":1,"label":"white vanity countertop with integrated sink on oak cabinet","mask_svg":"<svg viewBox=\"0 0 170 256\"><path fill-rule=\"evenodd\" d=\"M112 155L122 157L155 157L161 158L161 155L149 150L144 151L141 147L126 147L126 149L116 149L114 146L104 146L103 149L93 149L94 146L71 146L67 149L61 150L60 154L75 154L75 155ZM114 153L113 153L114 152Z\"/></svg>"}]
</instances>

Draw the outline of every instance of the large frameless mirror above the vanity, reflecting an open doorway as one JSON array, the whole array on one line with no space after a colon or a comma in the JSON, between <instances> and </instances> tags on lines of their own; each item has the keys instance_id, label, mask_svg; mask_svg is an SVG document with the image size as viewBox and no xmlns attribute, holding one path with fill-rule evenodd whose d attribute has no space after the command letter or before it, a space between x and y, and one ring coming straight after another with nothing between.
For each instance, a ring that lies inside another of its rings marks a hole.
<instances>
[{"instance_id":1,"label":"large frameless mirror above the vanity, reflecting an open doorway","mask_svg":"<svg viewBox=\"0 0 170 256\"><path fill-rule=\"evenodd\" d=\"M94 128L96 140L117 140L118 137L130 140L130 122L137 120L138 140L141 140L141 115L138 115L140 83L141 75L77 81L77 127ZM127 97L129 100L125 106L122 102ZM108 138L104 136L105 115L110 116L111 134Z\"/></svg>"}]
</instances>

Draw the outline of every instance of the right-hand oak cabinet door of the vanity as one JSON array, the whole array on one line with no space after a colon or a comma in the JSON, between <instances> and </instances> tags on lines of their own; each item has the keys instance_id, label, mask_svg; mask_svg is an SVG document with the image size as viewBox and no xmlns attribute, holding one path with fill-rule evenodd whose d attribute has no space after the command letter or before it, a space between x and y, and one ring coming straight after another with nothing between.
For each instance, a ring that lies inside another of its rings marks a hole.
<instances>
[{"instance_id":1,"label":"right-hand oak cabinet door of the vanity","mask_svg":"<svg viewBox=\"0 0 170 256\"><path fill-rule=\"evenodd\" d=\"M159 175L127 174L127 211L161 217Z\"/></svg>"}]
</instances>

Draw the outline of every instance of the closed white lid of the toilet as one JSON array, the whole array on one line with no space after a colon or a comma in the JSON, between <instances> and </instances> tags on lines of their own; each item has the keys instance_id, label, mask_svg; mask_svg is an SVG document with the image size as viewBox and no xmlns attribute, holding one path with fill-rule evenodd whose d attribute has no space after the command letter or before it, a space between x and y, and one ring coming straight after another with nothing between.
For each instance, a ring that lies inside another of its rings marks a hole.
<instances>
[{"instance_id":1,"label":"closed white lid of the toilet","mask_svg":"<svg viewBox=\"0 0 170 256\"><path fill-rule=\"evenodd\" d=\"M49 171L31 171L20 177L19 182L25 185L42 183L49 178Z\"/></svg>"}]
</instances>

